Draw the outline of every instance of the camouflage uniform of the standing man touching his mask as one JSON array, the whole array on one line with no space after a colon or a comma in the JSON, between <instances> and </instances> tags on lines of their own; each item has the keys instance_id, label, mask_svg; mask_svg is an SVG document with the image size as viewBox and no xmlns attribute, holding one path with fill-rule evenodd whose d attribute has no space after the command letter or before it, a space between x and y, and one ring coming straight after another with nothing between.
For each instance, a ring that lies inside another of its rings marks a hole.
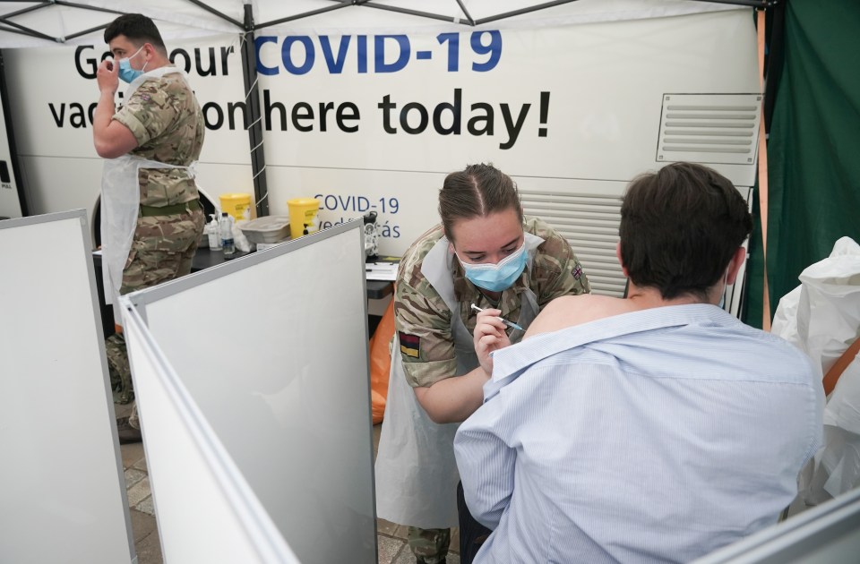
<instances>
[{"instance_id":1,"label":"camouflage uniform of the standing man touching his mask","mask_svg":"<svg viewBox=\"0 0 860 564\"><path fill-rule=\"evenodd\" d=\"M193 91L180 73L144 81L125 100L113 119L133 133L135 157L187 167L200 157L205 132ZM205 219L197 186L184 168L141 168L138 171L141 211L120 294L127 294L191 272L191 262ZM159 213L164 209L165 213ZM119 321L119 320L116 320ZM107 338L107 362L115 400L133 399L125 338ZM135 424L136 410L131 423Z\"/></svg>"}]
</instances>

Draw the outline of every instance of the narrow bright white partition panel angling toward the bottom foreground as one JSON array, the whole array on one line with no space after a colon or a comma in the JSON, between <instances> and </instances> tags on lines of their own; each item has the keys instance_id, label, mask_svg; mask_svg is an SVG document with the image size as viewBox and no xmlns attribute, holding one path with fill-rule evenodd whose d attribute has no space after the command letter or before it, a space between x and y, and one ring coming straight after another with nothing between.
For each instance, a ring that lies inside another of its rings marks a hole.
<instances>
[{"instance_id":1,"label":"narrow bright white partition panel angling toward the bottom foreground","mask_svg":"<svg viewBox=\"0 0 860 564\"><path fill-rule=\"evenodd\" d=\"M138 313L124 320L165 560L297 564Z\"/></svg>"}]
</instances>

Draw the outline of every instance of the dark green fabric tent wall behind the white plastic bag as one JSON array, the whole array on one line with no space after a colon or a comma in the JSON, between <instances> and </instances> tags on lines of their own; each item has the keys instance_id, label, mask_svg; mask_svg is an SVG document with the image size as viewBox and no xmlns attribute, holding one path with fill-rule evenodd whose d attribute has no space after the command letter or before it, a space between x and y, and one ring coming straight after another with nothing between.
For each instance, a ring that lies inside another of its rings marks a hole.
<instances>
[{"instance_id":1,"label":"dark green fabric tent wall behind the white plastic bag","mask_svg":"<svg viewBox=\"0 0 860 564\"><path fill-rule=\"evenodd\" d=\"M860 242L860 3L790 0L770 120L768 279L779 298L841 236ZM771 86L769 85L769 88ZM755 209L758 215L758 198ZM761 228L751 244L744 320L761 327Z\"/></svg>"}]
</instances>

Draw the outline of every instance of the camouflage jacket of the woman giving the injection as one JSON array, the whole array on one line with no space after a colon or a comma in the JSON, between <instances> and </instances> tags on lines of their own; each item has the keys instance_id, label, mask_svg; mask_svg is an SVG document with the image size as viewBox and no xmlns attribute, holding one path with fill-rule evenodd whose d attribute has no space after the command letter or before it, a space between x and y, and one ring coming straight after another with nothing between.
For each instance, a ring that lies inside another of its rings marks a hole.
<instances>
[{"instance_id":1,"label":"camouflage jacket of the woman giving the injection","mask_svg":"<svg viewBox=\"0 0 860 564\"><path fill-rule=\"evenodd\" d=\"M485 295L465 277L460 261L453 261L454 295L460 304L460 315L466 329L473 331L478 307L502 310L502 316L516 322L520 318L522 292L529 287L543 308L560 295L586 294L589 280L582 273L580 261L571 245L555 229L538 218L524 218L523 229L544 239L538 246L531 269L526 269L513 286L503 291L499 303L490 303ZM400 261L394 295L394 324L400 337L400 359L407 381L412 387L430 386L450 378L457 368L451 320L452 312L442 297L421 274L427 252L444 235L435 226L409 247Z\"/></svg>"}]
</instances>

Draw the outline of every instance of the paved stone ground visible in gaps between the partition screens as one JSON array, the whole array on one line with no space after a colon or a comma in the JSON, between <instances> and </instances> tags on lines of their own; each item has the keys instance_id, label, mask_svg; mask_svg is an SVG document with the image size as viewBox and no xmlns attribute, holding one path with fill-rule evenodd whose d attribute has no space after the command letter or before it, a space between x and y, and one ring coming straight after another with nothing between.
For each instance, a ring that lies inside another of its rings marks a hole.
<instances>
[{"instance_id":1,"label":"paved stone ground visible in gaps between the partition screens","mask_svg":"<svg viewBox=\"0 0 860 564\"><path fill-rule=\"evenodd\" d=\"M128 414L128 406L114 406L116 416ZM382 424L374 425L374 457L379 446L379 433ZM146 457L143 443L121 445L125 488L128 495L128 508L132 518L134 549L137 551L138 564L162 564L159 530L156 525L155 509L152 505L150 479L147 475ZM406 543L407 527L376 520L376 540L379 547L379 564L409 564L415 557ZM460 534L454 529L451 538L452 551L448 553L448 564L460 564Z\"/></svg>"}]
</instances>

